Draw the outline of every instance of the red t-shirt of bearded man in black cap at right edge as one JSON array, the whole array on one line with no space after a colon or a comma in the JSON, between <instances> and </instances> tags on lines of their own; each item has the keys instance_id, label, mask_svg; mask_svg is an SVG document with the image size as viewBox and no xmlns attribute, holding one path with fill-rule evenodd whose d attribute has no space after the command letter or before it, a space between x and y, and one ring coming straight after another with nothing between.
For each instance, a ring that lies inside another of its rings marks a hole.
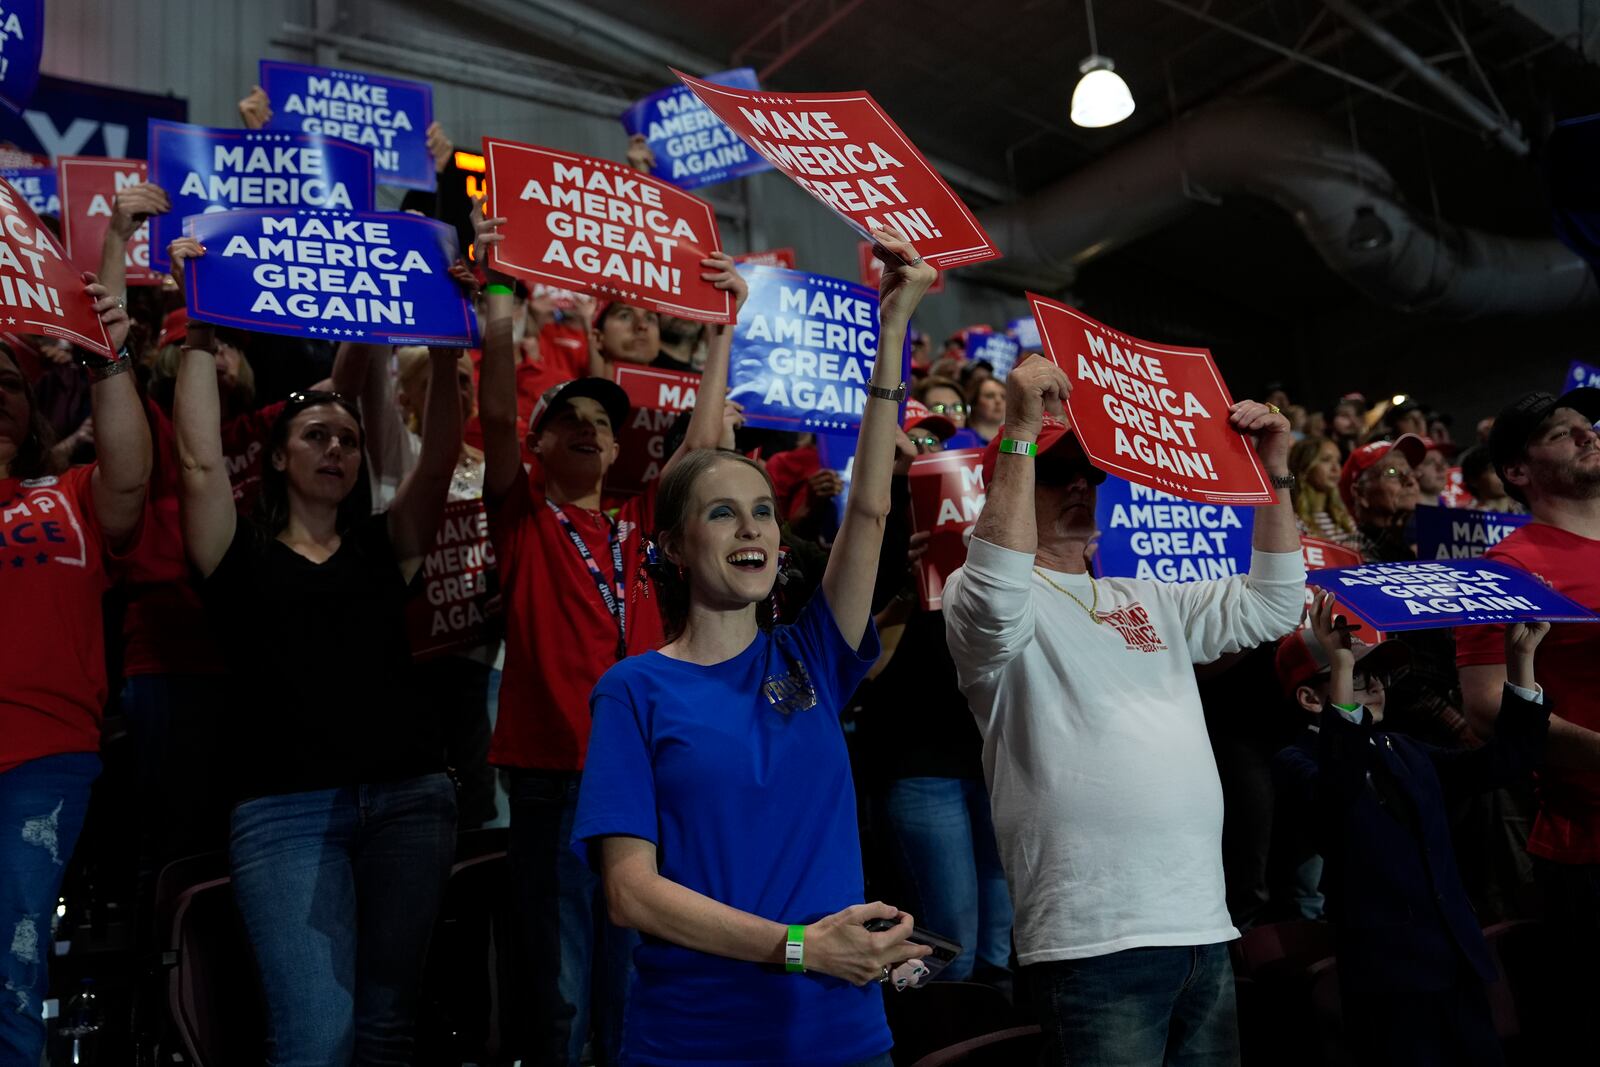
<instances>
[{"instance_id":1,"label":"red t-shirt of bearded man in black cap at right edge","mask_svg":"<svg viewBox=\"0 0 1600 1067\"><path fill-rule=\"evenodd\" d=\"M1600 541L1528 523L1483 553L1544 579L1600 611ZM1506 627L1456 629L1456 665L1506 662ZM1539 643L1534 677L1555 713L1600 731L1600 624L1557 622ZM1539 773L1539 814L1528 851L1563 864L1600 864L1600 774L1549 766Z\"/></svg>"}]
</instances>

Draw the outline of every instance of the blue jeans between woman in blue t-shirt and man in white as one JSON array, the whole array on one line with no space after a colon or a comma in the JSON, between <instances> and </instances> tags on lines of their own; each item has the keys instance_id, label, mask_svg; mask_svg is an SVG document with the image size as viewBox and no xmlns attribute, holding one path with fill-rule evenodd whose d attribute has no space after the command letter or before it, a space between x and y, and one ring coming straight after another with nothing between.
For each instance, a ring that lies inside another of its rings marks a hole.
<instances>
[{"instance_id":1,"label":"blue jeans between woman in blue t-shirt and man in white","mask_svg":"<svg viewBox=\"0 0 1600 1067\"><path fill-rule=\"evenodd\" d=\"M1006 969L1011 894L982 781L902 777L890 782L883 811L914 893L906 910L918 926L962 942L962 955L939 977L958 982L974 966Z\"/></svg>"}]
</instances>

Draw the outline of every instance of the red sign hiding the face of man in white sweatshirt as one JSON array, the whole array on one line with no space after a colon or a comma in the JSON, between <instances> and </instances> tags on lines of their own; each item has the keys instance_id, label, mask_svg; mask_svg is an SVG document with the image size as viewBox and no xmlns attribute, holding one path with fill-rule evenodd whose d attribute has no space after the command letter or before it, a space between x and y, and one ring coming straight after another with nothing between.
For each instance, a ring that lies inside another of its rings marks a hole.
<instances>
[{"instance_id":1,"label":"red sign hiding the face of man in white sweatshirt","mask_svg":"<svg viewBox=\"0 0 1600 1067\"><path fill-rule=\"evenodd\" d=\"M1045 354L1072 379L1067 413L1109 474L1205 504L1272 504L1256 450L1227 424L1234 403L1206 349L1150 344L1027 294Z\"/></svg>"}]
</instances>

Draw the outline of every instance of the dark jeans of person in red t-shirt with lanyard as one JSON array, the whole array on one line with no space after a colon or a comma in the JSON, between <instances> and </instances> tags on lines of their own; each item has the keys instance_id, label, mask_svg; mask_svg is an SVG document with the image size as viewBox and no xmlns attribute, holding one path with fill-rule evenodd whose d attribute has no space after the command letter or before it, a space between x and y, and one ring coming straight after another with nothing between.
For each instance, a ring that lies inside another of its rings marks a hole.
<instances>
[{"instance_id":1,"label":"dark jeans of person in red t-shirt with lanyard","mask_svg":"<svg viewBox=\"0 0 1600 1067\"><path fill-rule=\"evenodd\" d=\"M595 1062L614 1067L638 934L606 918L600 877L573 851L581 774L514 771L510 873L517 901L526 1053L578 1067L594 1022Z\"/></svg>"}]
</instances>

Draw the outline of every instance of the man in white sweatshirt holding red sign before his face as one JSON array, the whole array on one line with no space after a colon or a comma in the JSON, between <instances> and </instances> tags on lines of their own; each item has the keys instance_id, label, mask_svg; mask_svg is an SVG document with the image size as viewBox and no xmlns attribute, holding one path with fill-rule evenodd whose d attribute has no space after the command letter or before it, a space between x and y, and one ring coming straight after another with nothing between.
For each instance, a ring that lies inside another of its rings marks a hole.
<instances>
[{"instance_id":1,"label":"man in white sweatshirt holding red sign before his face","mask_svg":"<svg viewBox=\"0 0 1600 1067\"><path fill-rule=\"evenodd\" d=\"M1238 1062L1238 931L1222 899L1222 789L1194 665L1291 632L1306 568L1290 424L1235 403L1278 502L1256 512L1250 574L1168 585L1093 579L1094 486L1059 411L1067 376L1034 357L1006 381L987 501L944 590L950 654L984 734L1042 1064ZM1014 443L1011 443L1014 442Z\"/></svg>"}]
</instances>

